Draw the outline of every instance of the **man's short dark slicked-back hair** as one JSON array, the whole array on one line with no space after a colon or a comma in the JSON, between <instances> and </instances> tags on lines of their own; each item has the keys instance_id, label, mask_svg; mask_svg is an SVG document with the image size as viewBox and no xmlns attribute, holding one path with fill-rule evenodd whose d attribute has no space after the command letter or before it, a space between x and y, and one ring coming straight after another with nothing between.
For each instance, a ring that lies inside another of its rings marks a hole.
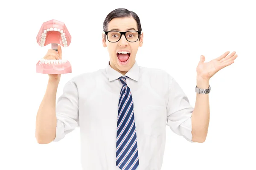
<instances>
[{"instance_id":1,"label":"man's short dark slicked-back hair","mask_svg":"<svg viewBox=\"0 0 256 170\"><path fill-rule=\"evenodd\" d=\"M142 31L142 28L140 25L140 18L138 17L138 15L135 12L129 11L128 9L125 9L125 8L117 8L111 11L107 15L107 17L103 22L103 31L108 30L108 23L110 23L111 20L113 20L114 18L123 18L123 17L133 17L134 20L136 20L137 22L138 31Z\"/></svg>"}]
</instances>

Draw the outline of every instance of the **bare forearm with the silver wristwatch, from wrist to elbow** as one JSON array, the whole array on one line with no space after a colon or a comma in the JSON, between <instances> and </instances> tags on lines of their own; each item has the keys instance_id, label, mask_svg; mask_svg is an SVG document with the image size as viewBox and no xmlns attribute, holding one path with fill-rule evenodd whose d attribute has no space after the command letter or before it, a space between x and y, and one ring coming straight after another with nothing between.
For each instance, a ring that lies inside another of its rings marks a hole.
<instances>
[{"instance_id":1,"label":"bare forearm with the silver wristwatch, from wrist to elbow","mask_svg":"<svg viewBox=\"0 0 256 170\"><path fill-rule=\"evenodd\" d=\"M197 77L197 87L209 88L209 80ZM195 108L192 113L192 141L204 142L209 127L209 94L196 94Z\"/></svg>"}]
</instances>

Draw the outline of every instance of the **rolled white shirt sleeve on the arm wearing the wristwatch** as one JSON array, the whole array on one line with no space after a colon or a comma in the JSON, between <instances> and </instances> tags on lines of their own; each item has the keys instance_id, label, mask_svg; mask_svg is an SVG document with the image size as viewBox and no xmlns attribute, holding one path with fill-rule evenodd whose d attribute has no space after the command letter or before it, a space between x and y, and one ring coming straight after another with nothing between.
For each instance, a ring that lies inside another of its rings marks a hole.
<instances>
[{"instance_id":1,"label":"rolled white shirt sleeve on the arm wearing the wristwatch","mask_svg":"<svg viewBox=\"0 0 256 170\"><path fill-rule=\"evenodd\" d=\"M191 116L194 108L180 85L170 75L168 92L167 125L174 133L193 143Z\"/></svg>"}]
</instances>

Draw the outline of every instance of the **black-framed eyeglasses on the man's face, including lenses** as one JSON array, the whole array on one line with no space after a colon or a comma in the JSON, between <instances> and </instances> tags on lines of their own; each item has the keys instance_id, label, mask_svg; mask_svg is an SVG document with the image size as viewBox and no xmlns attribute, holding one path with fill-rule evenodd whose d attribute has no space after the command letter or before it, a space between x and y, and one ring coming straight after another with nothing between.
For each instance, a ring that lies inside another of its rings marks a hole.
<instances>
[{"instance_id":1,"label":"black-framed eyeglasses on the man's face, including lenses","mask_svg":"<svg viewBox=\"0 0 256 170\"><path fill-rule=\"evenodd\" d=\"M125 36L125 39L129 42L136 42L139 40L139 36L141 34L141 31L106 31L104 34L107 35L109 42L117 42L121 39L122 35Z\"/></svg>"}]
</instances>

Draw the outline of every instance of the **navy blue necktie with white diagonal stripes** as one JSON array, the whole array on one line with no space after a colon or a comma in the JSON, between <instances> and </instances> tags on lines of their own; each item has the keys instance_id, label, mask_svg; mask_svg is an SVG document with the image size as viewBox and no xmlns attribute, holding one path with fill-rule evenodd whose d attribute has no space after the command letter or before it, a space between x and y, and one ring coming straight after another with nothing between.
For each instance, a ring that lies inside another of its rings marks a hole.
<instances>
[{"instance_id":1,"label":"navy blue necktie with white diagonal stripes","mask_svg":"<svg viewBox=\"0 0 256 170\"><path fill-rule=\"evenodd\" d=\"M116 166L121 170L136 170L139 166L134 106L127 76L119 77L122 89L119 96L116 129Z\"/></svg>"}]
</instances>

